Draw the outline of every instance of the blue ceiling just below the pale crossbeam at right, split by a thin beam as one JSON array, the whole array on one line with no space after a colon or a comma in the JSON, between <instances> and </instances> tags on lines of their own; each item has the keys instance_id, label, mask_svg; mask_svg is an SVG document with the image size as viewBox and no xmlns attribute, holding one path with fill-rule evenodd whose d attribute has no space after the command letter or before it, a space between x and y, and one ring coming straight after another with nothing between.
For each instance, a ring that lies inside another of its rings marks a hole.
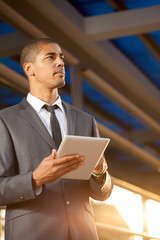
<instances>
[{"instance_id":1,"label":"blue ceiling just below the pale crossbeam at right, split by a thin beam","mask_svg":"<svg viewBox=\"0 0 160 240\"><path fill-rule=\"evenodd\" d=\"M160 46L160 31L149 33ZM137 36L121 37L111 42L118 47L150 81L160 89L160 62Z\"/></svg>"}]
</instances>

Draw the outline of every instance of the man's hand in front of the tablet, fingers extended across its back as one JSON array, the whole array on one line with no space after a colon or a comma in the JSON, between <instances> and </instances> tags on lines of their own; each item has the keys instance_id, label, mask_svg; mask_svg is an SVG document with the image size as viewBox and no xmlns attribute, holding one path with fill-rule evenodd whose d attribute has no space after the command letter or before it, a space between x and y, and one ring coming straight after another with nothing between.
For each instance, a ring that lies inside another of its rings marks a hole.
<instances>
[{"instance_id":1,"label":"man's hand in front of the tablet, fingers extended across its back","mask_svg":"<svg viewBox=\"0 0 160 240\"><path fill-rule=\"evenodd\" d=\"M37 188L46 183L51 183L65 173L77 169L84 163L84 157L78 154L56 158L56 150L44 158L32 174L33 187Z\"/></svg>"}]
</instances>

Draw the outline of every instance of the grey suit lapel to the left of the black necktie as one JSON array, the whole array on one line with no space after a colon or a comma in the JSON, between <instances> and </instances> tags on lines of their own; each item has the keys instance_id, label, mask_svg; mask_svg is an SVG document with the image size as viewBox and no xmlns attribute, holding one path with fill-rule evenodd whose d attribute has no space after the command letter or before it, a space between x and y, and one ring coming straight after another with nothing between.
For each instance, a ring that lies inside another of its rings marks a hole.
<instances>
[{"instance_id":1,"label":"grey suit lapel to the left of the black necktie","mask_svg":"<svg viewBox=\"0 0 160 240\"><path fill-rule=\"evenodd\" d=\"M38 117L32 106L24 99L21 103L21 113L25 119L35 128L36 131L48 142L52 148L56 148L53 138L48 133L46 127Z\"/></svg>"}]
</instances>

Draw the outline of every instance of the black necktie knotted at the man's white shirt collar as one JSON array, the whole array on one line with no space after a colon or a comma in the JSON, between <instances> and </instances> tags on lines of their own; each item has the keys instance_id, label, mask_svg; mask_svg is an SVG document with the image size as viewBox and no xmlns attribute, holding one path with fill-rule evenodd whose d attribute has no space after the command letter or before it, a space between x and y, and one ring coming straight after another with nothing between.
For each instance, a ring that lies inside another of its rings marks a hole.
<instances>
[{"instance_id":1,"label":"black necktie knotted at the man's white shirt collar","mask_svg":"<svg viewBox=\"0 0 160 240\"><path fill-rule=\"evenodd\" d=\"M54 110L59 107L57 105L49 106L45 104L43 108L45 108L48 112L51 113L50 124L51 124L52 136L58 148L62 141L62 136L61 136L61 129L60 129Z\"/></svg>"}]
</instances>

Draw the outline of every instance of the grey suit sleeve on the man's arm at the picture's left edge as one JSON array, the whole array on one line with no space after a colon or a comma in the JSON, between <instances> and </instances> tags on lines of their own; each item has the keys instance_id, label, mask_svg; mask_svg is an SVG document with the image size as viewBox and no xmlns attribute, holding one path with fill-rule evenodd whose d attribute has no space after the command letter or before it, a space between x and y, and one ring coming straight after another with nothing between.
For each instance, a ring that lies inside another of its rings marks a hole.
<instances>
[{"instance_id":1,"label":"grey suit sleeve on the man's arm at the picture's left edge","mask_svg":"<svg viewBox=\"0 0 160 240\"><path fill-rule=\"evenodd\" d=\"M10 133L0 119L0 205L9 205L35 198L32 172L19 174L16 153Z\"/></svg>"}]
</instances>

